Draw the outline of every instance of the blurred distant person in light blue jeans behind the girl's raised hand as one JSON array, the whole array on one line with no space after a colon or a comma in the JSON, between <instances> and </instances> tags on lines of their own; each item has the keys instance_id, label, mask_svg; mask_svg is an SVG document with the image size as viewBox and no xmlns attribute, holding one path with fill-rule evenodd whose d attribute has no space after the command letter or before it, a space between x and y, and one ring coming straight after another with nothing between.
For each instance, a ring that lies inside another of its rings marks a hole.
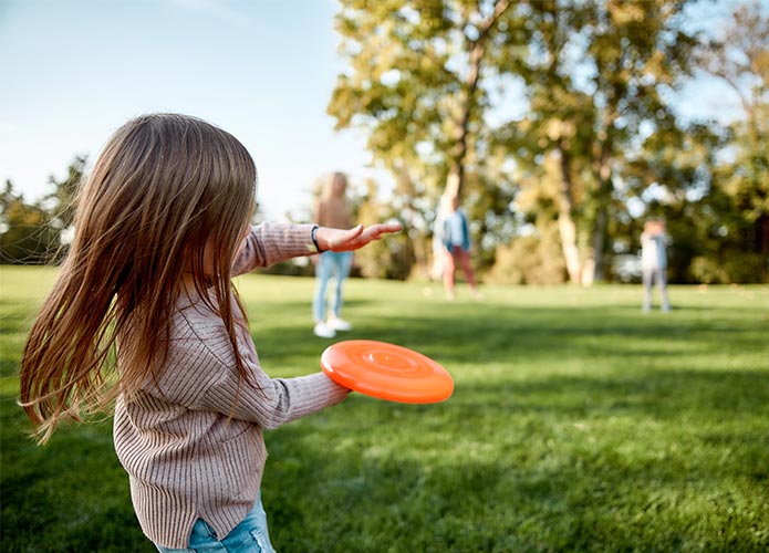
<instances>
[{"instance_id":1,"label":"blurred distant person in light blue jeans behind the girl's raised hand","mask_svg":"<svg viewBox=\"0 0 769 553\"><path fill-rule=\"evenodd\" d=\"M324 182L321 197L315 202L313 219L321 227L349 229L352 226L352 213L347 202L347 177L343 173L334 173ZM341 225L341 227L336 227ZM313 332L316 336L332 338L337 331L351 331L352 324L340 315L344 303L342 286L350 275L353 264L352 251L324 251L315 263L315 296L312 302L312 315L315 320ZM326 289L329 281L335 279L334 299L329 309Z\"/></svg>"}]
</instances>

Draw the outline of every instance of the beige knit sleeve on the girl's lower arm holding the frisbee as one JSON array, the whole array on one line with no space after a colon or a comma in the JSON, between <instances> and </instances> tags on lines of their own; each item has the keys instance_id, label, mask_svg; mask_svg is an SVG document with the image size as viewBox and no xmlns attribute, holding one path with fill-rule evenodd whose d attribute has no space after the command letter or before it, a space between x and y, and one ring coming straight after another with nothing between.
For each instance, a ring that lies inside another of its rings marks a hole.
<instances>
[{"instance_id":1,"label":"beige knit sleeve on the girl's lower arm holding the frisbee","mask_svg":"<svg viewBox=\"0 0 769 553\"><path fill-rule=\"evenodd\" d=\"M349 389L319 372L294 378L270 378L262 371L250 337L238 337L238 353L249 374L240 377L221 320L188 319L177 334L163 372L163 396L188 409L208 410L277 428L339 404Z\"/></svg>"}]
</instances>

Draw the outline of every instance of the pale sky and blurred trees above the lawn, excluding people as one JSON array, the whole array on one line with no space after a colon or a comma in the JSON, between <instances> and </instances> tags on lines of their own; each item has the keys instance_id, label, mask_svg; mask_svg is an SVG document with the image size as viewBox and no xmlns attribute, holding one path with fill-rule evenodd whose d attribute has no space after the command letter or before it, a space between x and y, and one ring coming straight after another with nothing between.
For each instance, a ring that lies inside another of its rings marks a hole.
<instances>
[{"instance_id":1,"label":"pale sky and blurred trees above the lawn, excluding people","mask_svg":"<svg viewBox=\"0 0 769 553\"><path fill-rule=\"evenodd\" d=\"M107 136L175 111L251 150L257 220L309 220L316 180L350 173L361 222L407 228L358 257L365 276L425 276L451 188L488 282L637 279L651 217L667 220L671 282L767 282L768 13L766 0L3 2L0 258L55 261Z\"/></svg>"}]
</instances>

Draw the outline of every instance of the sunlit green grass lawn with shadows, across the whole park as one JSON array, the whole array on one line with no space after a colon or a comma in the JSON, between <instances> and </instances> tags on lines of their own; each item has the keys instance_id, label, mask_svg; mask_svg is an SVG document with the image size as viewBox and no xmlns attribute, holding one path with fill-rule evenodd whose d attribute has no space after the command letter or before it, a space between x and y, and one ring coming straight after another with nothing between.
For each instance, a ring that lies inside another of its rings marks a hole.
<instances>
[{"instance_id":1,"label":"sunlit green grass lawn with shadows, across the whole park","mask_svg":"<svg viewBox=\"0 0 769 553\"><path fill-rule=\"evenodd\" d=\"M54 271L0 269L2 551L154 551L111 426L45 447L15 406L24 330ZM264 369L318 371L311 279L239 285ZM353 394L267 435L284 552L769 550L769 288L460 288L353 280L341 337L444 364L454 396Z\"/></svg>"}]
</instances>

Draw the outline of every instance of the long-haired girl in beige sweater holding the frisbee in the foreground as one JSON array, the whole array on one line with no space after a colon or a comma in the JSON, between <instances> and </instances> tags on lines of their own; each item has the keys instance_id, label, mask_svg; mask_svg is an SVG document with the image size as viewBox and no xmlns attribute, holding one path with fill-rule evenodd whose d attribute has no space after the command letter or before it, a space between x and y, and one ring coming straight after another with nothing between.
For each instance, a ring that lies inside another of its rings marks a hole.
<instances>
[{"instance_id":1,"label":"long-haired girl in beige sweater holding the frisbee in the foreground","mask_svg":"<svg viewBox=\"0 0 769 553\"><path fill-rule=\"evenodd\" d=\"M399 230L250 228L256 181L246 148L208 123L128 122L80 191L74 240L24 348L21 401L41 441L116 399L115 450L159 551L272 551L262 429L349 392L323 373L267 376L230 278Z\"/></svg>"}]
</instances>

